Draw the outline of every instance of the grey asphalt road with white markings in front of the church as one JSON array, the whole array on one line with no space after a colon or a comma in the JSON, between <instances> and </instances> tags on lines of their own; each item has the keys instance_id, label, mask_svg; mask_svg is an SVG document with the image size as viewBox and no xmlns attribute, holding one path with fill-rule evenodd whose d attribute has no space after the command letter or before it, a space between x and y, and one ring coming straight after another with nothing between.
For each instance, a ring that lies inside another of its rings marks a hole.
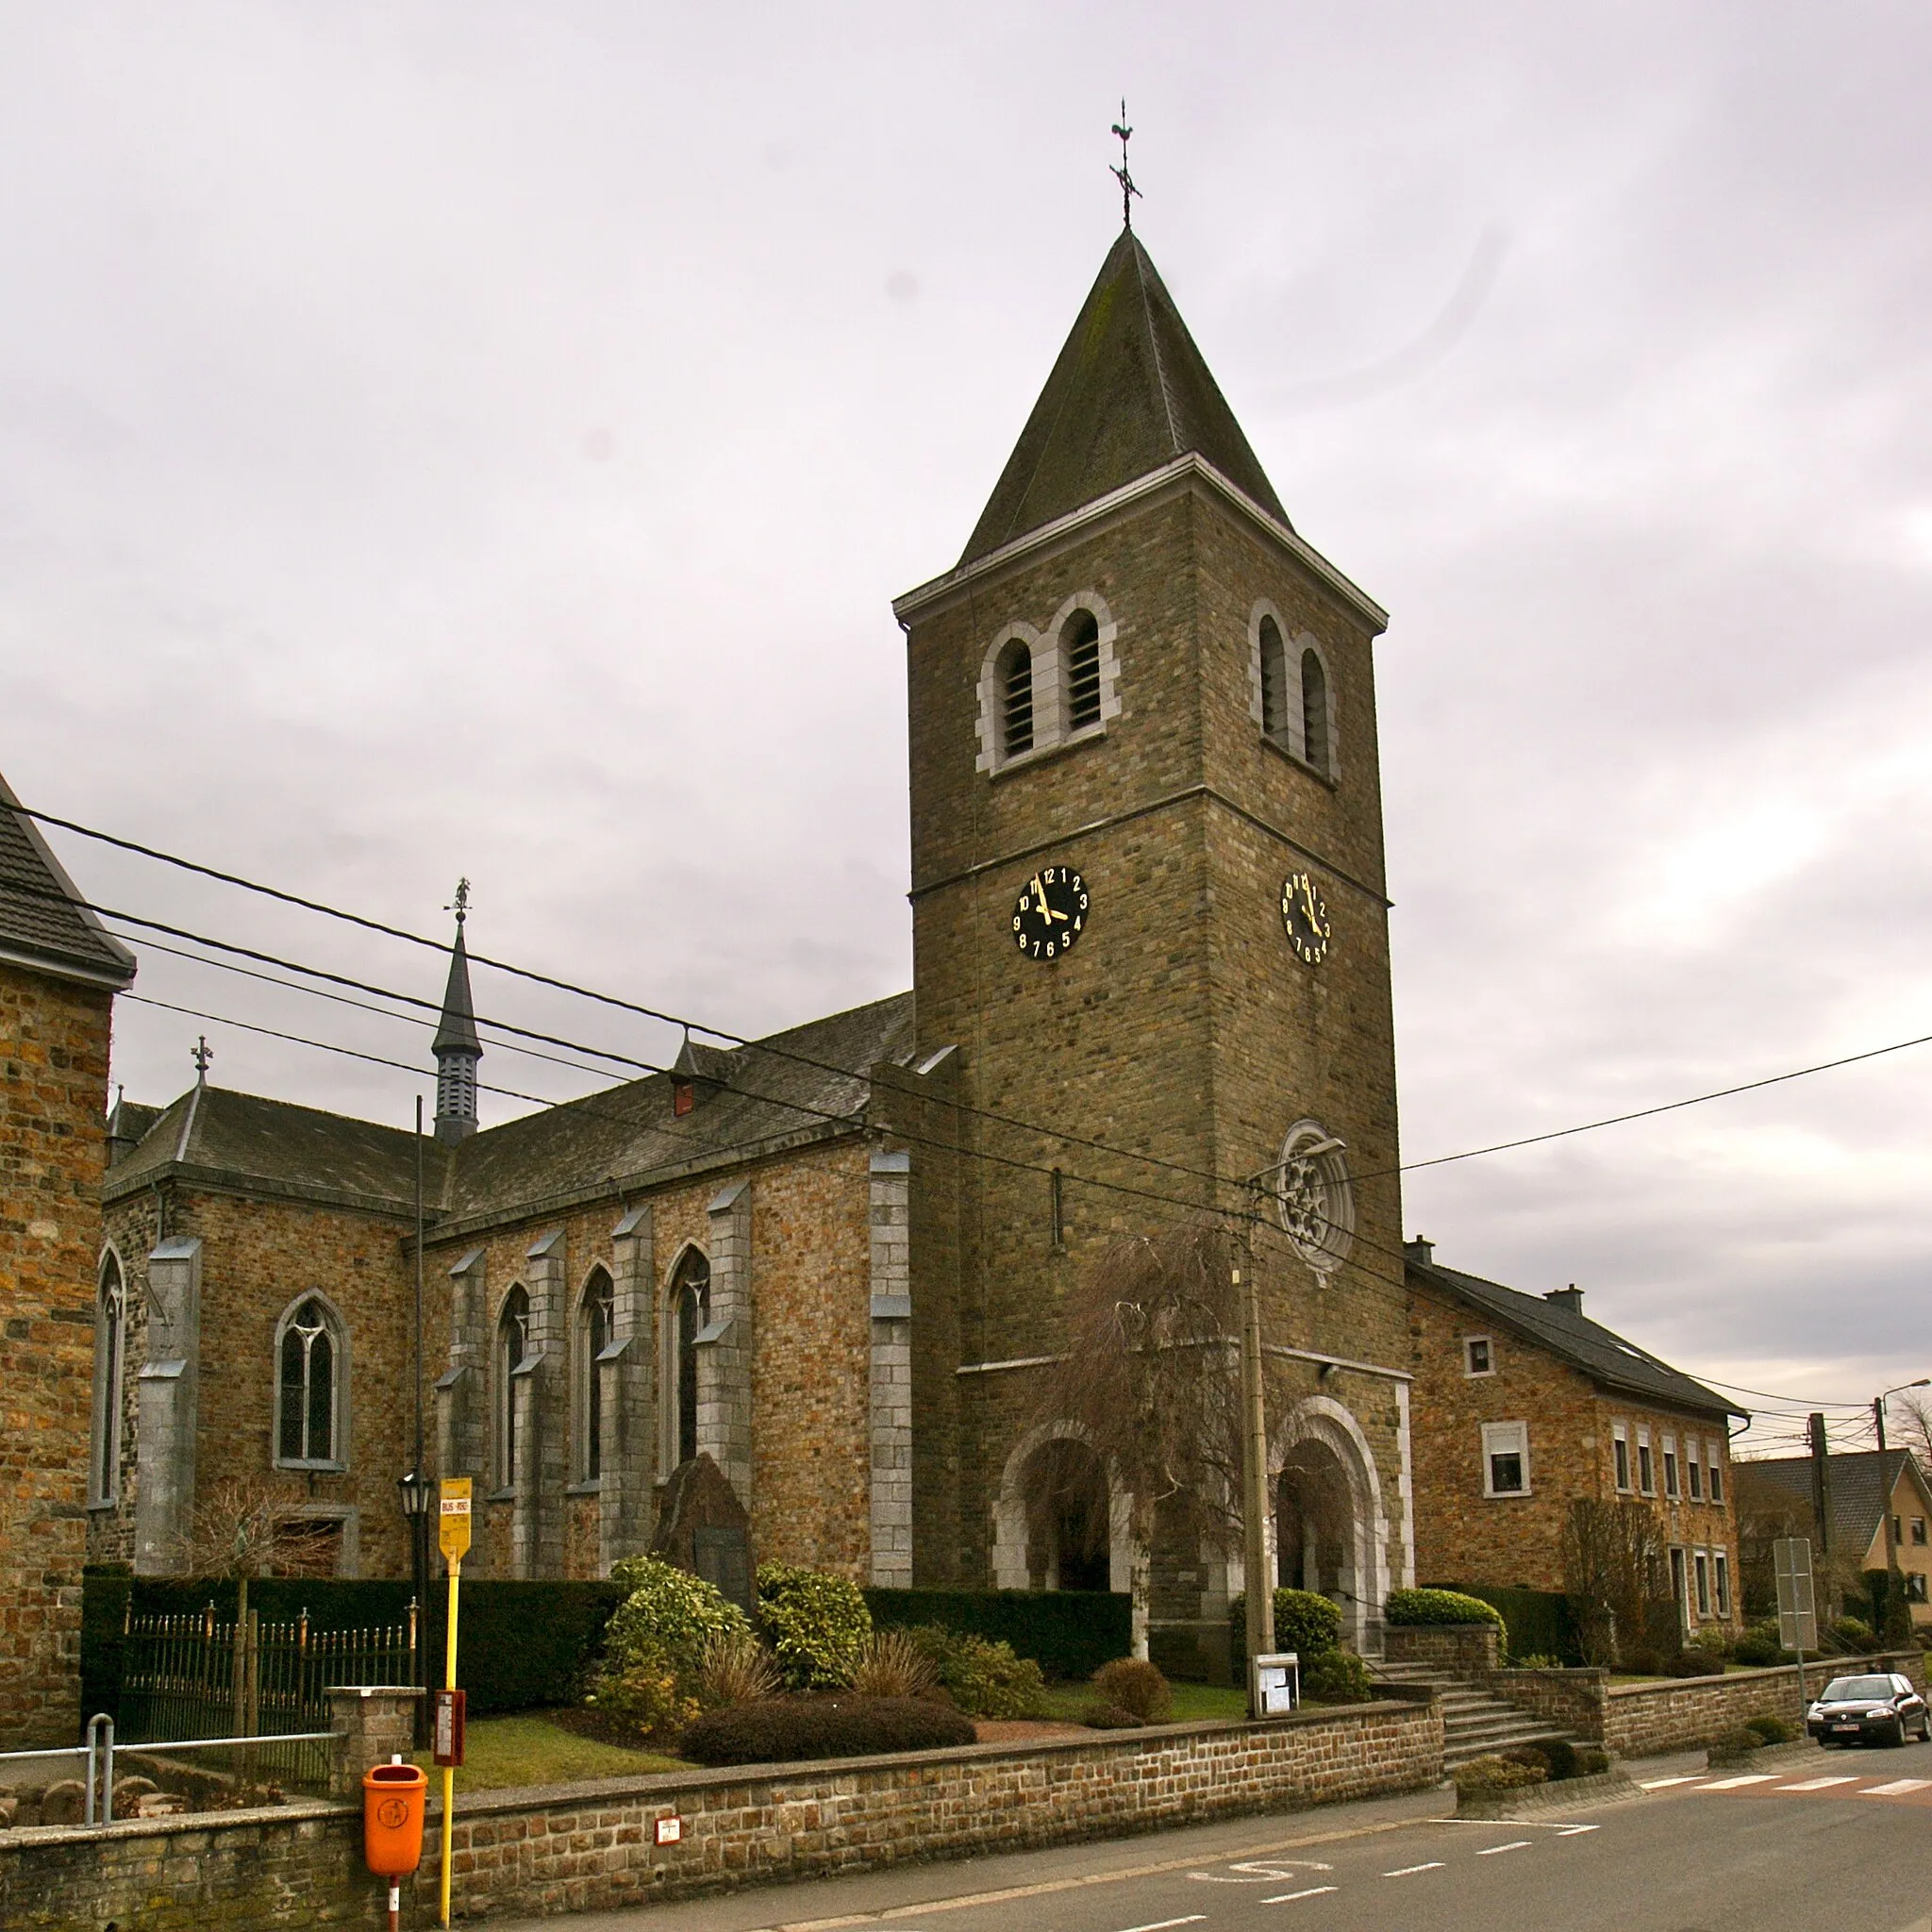
<instances>
[{"instance_id":1,"label":"grey asphalt road with white markings in front of the church","mask_svg":"<svg viewBox=\"0 0 1932 1932\"><path fill-rule=\"evenodd\" d=\"M1441 1793L1107 1845L808 1880L572 1932L1932 1932L1932 1747L1656 1789L1522 1822ZM556 1920L529 1920L556 1926ZM514 1932L504 1926L502 1932Z\"/></svg>"}]
</instances>

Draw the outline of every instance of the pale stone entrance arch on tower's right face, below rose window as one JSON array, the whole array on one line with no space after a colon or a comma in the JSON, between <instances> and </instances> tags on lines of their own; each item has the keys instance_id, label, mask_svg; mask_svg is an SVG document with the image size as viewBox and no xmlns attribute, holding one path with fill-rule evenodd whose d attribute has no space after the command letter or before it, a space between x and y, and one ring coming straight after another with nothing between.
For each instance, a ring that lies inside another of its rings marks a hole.
<instances>
[{"instance_id":1,"label":"pale stone entrance arch on tower's right face, below rose window","mask_svg":"<svg viewBox=\"0 0 1932 1932\"><path fill-rule=\"evenodd\" d=\"M1333 1598L1343 1636L1381 1652L1389 1522L1360 1424L1331 1397L1300 1403L1269 1453L1275 1580Z\"/></svg>"}]
</instances>

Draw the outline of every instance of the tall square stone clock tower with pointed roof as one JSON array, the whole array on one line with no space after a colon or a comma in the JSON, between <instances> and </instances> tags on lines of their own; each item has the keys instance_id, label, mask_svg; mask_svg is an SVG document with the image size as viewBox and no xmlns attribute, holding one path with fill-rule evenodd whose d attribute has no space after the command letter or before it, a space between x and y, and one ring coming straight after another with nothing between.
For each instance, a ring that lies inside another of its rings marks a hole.
<instances>
[{"instance_id":1,"label":"tall square stone clock tower with pointed roof","mask_svg":"<svg viewBox=\"0 0 1932 1932\"><path fill-rule=\"evenodd\" d=\"M1279 1573L1374 1648L1414 1567L1387 616L1296 535L1130 230L960 562L895 611L920 1051L956 1049L978 1155L914 1209L920 1578L1124 1586L1119 1499L1095 1565L1034 1493L1061 1298L1109 1240L1238 1208L1260 1175L1265 1339L1302 1397ZM920 1320L943 1306L956 1352ZM1225 1658L1236 1588L1235 1563L1157 1553L1173 1662Z\"/></svg>"}]
</instances>

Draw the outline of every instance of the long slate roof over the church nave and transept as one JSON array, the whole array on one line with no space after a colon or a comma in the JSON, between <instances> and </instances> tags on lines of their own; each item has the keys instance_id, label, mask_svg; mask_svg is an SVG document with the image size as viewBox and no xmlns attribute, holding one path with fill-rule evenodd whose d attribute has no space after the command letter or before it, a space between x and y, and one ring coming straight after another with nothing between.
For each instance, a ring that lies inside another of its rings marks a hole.
<instances>
[{"instance_id":1,"label":"long slate roof over the church nave and transept","mask_svg":"<svg viewBox=\"0 0 1932 1932\"><path fill-rule=\"evenodd\" d=\"M423 1142L423 1190L437 1223L514 1219L612 1180L647 1182L788 1136L858 1121L869 1068L912 1059L912 995L835 1012L732 1051L699 1047L697 1107L674 1117L670 1080L651 1074L562 1107L483 1128L458 1146ZM810 1065L821 1063L821 1065ZM398 1211L415 1184L415 1136L288 1101L191 1088L108 1173L116 1198L180 1163L230 1184Z\"/></svg>"}]
</instances>

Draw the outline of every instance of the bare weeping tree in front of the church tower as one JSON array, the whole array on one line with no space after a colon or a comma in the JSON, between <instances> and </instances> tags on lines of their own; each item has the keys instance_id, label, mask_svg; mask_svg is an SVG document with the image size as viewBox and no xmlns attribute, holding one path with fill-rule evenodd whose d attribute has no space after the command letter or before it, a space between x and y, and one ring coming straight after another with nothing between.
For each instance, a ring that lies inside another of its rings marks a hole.
<instances>
[{"instance_id":1,"label":"bare weeping tree in front of the church tower","mask_svg":"<svg viewBox=\"0 0 1932 1932\"><path fill-rule=\"evenodd\" d=\"M1130 1509L1134 1654L1146 1656L1155 1515L1165 1536L1225 1553L1238 1548L1240 1366L1233 1238L1186 1227L1115 1242L1066 1298L1066 1354L1032 1420L1070 1428ZM1271 1418L1291 1395L1267 1374ZM1086 1457L1051 1447L1036 1463L1047 1501L1080 1480ZM1086 1513L1094 1522L1094 1513ZM1105 1520L1090 1534L1105 1534ZM1252 1578L1250 1578L1252 1580Z\"/></svg>"}]
</instances>

